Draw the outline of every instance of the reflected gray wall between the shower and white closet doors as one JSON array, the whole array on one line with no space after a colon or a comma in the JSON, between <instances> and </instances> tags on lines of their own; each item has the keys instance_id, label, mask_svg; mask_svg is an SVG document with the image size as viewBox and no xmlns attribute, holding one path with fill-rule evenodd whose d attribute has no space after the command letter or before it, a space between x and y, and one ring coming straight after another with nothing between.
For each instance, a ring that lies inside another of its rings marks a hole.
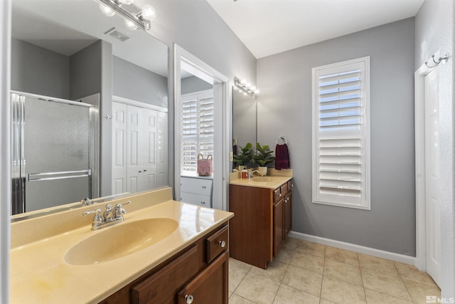
<instances>
[{"instance_id":1,"label":"reflected gray wall between the shower and white closet doors","mask_svg":"<svg viewBox=\"0 0 455 304\"><path fill-rule=\"evenodd\" d=\"M70 99L100 93L100 196L112 194L112 46L97 41L70 56Z\"/></svg>"}]
</instances>

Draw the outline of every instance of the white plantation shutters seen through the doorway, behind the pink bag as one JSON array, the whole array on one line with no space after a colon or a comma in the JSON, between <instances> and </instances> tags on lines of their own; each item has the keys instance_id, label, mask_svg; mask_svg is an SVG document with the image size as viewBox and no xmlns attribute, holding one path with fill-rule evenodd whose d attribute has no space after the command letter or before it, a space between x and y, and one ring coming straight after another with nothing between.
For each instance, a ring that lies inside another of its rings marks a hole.
<instances>
[{"instance_id":1,"label":"white plantation shutters seen through the doorway, behind the pink bag","mask_svg":"<svg viewBox=\"0 0 455 304\"><path fill-rule=\"evenodd\" d=\"M213 155L213 90L181 98L181 170L197 171L198 154Z\"/></svg>"}]
</instances>

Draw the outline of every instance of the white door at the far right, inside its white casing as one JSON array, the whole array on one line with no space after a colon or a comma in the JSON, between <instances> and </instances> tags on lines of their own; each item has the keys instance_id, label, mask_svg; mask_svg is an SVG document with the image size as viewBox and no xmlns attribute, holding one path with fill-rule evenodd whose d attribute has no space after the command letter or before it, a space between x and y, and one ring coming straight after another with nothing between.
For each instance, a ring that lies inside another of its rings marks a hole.
<instances>
[{"instance_id":1,"label":"white door at the far right, inside its white casing","mask_svg":"<svg viewBox=\"0 0 455 304\"><path fill-rule=\"evenodd\" d=\"M440 285L439 68L424 78L427 273Z\"/></svg>"}]
</instances>

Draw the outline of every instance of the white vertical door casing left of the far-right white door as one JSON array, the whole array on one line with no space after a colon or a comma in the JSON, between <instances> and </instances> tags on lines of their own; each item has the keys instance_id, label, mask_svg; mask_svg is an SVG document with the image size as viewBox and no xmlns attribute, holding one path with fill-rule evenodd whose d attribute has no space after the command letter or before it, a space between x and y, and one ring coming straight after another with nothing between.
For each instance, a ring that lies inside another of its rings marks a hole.
<instances>
[{"instance_id":1,"label":"white vertical door casing left of the far-right white door","mask_svg":"<svg viewBox=\"0 0 455 304\"><path fill-rule=\"evenodd\" d=\"M439 58L439 51L434 53ZM429 58L428 62L432 62ZM427 270L427 231L425 227L425 113L424 78L433 68L423 64L414 73L414 130L415 130L415 229L416 261L420 271Z\"/></svg>"}]
</instances>

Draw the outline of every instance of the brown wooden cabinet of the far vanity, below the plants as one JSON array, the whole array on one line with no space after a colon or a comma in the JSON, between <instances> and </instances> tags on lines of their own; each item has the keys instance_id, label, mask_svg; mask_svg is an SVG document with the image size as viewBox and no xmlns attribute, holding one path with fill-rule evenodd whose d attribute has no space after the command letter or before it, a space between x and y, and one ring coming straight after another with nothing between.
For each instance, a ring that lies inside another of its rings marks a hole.
<instances>
[{"instance_id":1,"label":"brown wooden cabinet of the far vanity, below the plants","mask_svg":"<svg viewBox=\"0 0 455 304\"><path fill-rule=\"evenodd\" d=\"M276 189L229 186L230 256L267 268L291 230L292 182Z\"/></svg>"}]
</instances>

